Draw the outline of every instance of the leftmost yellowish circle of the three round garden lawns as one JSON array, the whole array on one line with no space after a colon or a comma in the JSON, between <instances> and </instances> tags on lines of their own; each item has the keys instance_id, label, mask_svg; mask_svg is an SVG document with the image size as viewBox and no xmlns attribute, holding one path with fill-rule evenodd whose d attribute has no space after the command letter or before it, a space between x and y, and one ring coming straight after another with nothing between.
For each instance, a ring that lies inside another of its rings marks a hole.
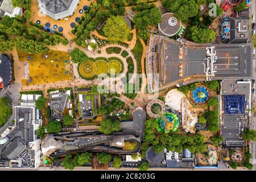
<instances>
[{"instance_id":1,"label":"leftmost yellowish circle of the three round garden lawns","mask_svg":"<svg viewBox=\"0 0 256 182\"><path fill-rule=\"evenodd\" d=\"M85 78L93 77L96 73L96 64L90 60L84 61L79 66L79 72Z\"/></svg>"}]
</instances>

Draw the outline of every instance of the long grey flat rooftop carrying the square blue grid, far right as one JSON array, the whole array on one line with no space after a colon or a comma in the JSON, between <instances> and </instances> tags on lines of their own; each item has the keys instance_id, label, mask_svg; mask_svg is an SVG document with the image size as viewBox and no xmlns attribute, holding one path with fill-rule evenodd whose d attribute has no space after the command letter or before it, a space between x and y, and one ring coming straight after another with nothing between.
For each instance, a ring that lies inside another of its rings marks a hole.
<instances>
[{"instance_id":1,"label":"long grey flat rooftop carrying the square blue grid, far right","mask_svg":"<svg viewBox=\"0 0 256 182\"><path fill-rule=\"evenodd\" d=\"M247 129L251 105L249 81L221 81L221 134L223 143L229 147L244 146L242 133Z\"/></svg>"}]
</instances>

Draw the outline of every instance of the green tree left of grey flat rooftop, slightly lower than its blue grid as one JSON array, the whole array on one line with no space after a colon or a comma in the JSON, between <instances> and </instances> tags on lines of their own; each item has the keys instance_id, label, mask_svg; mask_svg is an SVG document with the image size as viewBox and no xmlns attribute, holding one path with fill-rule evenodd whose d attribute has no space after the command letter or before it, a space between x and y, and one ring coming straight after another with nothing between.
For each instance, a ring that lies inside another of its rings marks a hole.
<instances>
[{"instance_id":1,"label":"green tree left of grey flat rooftop, slightly lower than its blue grid","mask_svg":"<svg viewBox=\"0 0 256 182\"><path fill-rule=\"evenodd\" d=\"M208 123L208 130L211 131L212 133L216 133L219 129L219 116L218 116L218 111L207 111L204 113L204 118L207 120Z\"/></svg>"}]
</instances>

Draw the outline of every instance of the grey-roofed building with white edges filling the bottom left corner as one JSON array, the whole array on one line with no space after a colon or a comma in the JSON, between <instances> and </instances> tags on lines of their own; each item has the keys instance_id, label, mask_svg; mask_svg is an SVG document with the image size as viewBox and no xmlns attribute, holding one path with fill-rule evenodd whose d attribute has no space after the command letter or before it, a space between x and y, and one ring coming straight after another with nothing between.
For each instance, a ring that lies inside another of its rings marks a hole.
<instances>
[{"instance_id":1,"label":"grey-roofed building with white edges filling the bottom left corner","mask_svg":"<svg viewBox=\"0 0 256 182\"><path fill-rule=\"evenodd\" d=\"M38 167L40 163L40 139L36 130L41 120L36 107L13 107L15 125L9 132L1 135L0 166L1 167ZM11 161L14 160L14 161ZM6 166L10 162L10 166Z\"/></svg>"}]
</instances>

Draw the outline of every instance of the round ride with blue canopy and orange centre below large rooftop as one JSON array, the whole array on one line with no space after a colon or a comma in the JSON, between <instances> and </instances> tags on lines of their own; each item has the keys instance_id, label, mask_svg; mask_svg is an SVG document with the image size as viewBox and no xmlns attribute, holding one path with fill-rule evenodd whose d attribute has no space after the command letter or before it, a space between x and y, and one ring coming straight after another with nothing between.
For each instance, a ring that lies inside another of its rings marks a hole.
<instances>
[{"instance_id":1,"label":"round ride with blue canopy and orange centre below large rooftop","mask_svg":"<svg viewBox=\"0 0 256 182\"><path fill-rule=\"evenodd\" d=\"M191 92L191 97L196 104L204 104L209 99L208 89L205 86L197 86L197 88Z\"/></svg>"}]
</instances>

